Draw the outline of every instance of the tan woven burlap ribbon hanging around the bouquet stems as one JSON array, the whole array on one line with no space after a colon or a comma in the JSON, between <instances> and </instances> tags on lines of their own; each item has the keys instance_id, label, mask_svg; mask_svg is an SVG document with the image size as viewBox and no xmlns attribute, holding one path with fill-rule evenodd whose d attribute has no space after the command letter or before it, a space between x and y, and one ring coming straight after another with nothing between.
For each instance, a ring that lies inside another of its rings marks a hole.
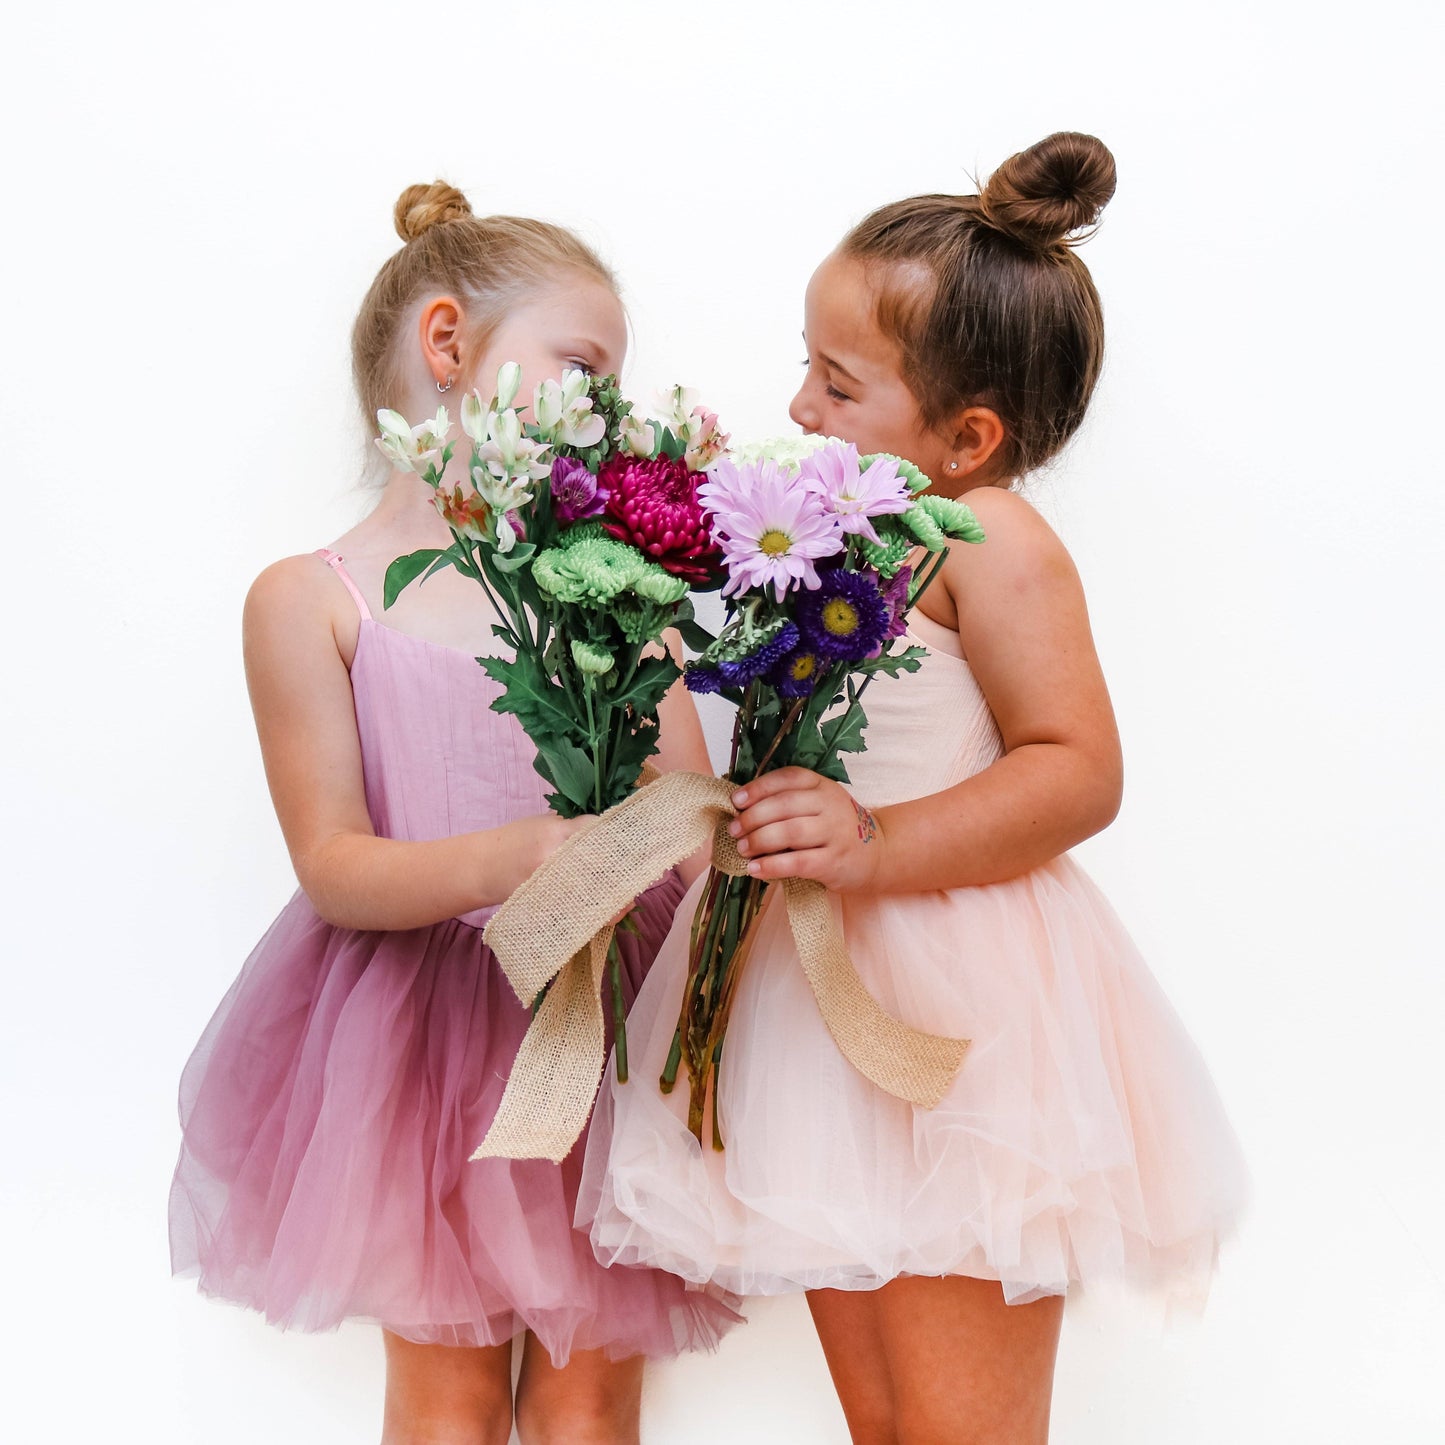
<instances>
[{"instance_id":1,"label":"tan woven burlap ribbon hanging around the bouquet stems","mask_svg":"<svg viewBox=\"0 0 1445 1445\"><path fill-rule=\"evenodd\" d=\"M668 773L571 838L493 915L483 939L517 997L527 1027L497 1116L473 1159L566 1157L587 1126L607 1062L601 985L611 919L675 863L712 840L712 864L747 871L727 832L734 783ZM962 1064L967 1039L923 1033L884 1013L844 946L828 890L783 880L803 974L842 1056L879 1088L932 1108Z\"/></svg>"}]
</instances>

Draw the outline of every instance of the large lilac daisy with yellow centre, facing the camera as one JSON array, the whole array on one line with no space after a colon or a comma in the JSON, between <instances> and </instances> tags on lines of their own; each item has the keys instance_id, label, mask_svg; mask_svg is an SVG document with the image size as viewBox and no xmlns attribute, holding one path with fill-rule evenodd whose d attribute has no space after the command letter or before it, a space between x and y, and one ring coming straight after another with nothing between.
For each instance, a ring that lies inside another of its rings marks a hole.
<instances>
[{"instance_id":1,"label":"large lilac daisy with yellow centre, facing the camera","mask_svg":"<svg viewBox=\"0 0 1445 1445\"><path fill-rule=\"evenodd\" d=\"M737 468L720 461L698 497L712 513L728 579L722 595L772 587L779 601L789 588L818 585L814 562L842 551L838 519L824 499L799 486L776 462Z\"/></svg>"}]
</instances>

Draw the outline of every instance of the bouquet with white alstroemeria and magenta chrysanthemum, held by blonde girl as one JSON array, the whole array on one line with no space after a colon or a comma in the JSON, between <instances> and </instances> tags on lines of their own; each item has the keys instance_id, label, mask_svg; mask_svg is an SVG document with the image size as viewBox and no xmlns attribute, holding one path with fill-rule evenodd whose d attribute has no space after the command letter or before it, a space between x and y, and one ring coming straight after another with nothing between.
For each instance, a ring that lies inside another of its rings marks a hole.
<instances>
[{"instance_id":1,"label":"bouquet with white alstroemeria and magenta chrysanthemum, held by blonde girl","mask_svg":"<svg viewBox=\"0 0 1445 1445\"><path fill-rule=\"evenodd\" d=\"M477 659L501 685L493 708L514 714L535 744L536 770L553 789L549 806L577 818L624 799L657 749L657 707L679 676L659 644L663 630L685 629L694 646L711 640L688 594L722 579L698 483L727 436L681 387L649 422L633 415L616 377L582 371L542 381L523 420L520 380L520 367L507 363L490 403L478 392L464 397L465 486L444 481L454 451L445 407L418 426L377 413L377 447L432 487L452 535L451 546L387 568L384 604L447 566L483 587L500 618L493 631L512 650ZM617 1072L626 1079L620 958L610 939L608 931ZM525 1001L536 1010L543 991Z\"/></svg>"}]
</instances>

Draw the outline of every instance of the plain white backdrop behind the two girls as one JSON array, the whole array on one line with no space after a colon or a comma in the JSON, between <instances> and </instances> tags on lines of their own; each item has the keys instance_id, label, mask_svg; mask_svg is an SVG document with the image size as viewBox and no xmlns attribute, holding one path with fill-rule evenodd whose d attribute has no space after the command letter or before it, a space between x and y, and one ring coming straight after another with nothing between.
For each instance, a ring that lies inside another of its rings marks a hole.
<instances>
[{"instance_id":1,"label":"plain white backdrop behind the two girls","mask_svg":"<svg viewBox=\"0 0 1445 1445\"><path fill-rule=\"evenodd\" d=\"M802 290L883 201L1056 129L1118 197L1110 357L1035 486L1129 760L1079 850L1256 1201L1204 1321L1090 1303L1065 1445L1445 1429L1439 7L16 7L0 94L4 1354L16 1438L373 1439L373 1331L168 1277L181 1065L292 887L241 679L269 561L366 504L347 331L403 185L577 225L634 394L786 426ZM19 1413L16 1413L19 1412ZM845 1438L796 1300L653 1371L649 1442Z\"/></svg>"}]
</instances>

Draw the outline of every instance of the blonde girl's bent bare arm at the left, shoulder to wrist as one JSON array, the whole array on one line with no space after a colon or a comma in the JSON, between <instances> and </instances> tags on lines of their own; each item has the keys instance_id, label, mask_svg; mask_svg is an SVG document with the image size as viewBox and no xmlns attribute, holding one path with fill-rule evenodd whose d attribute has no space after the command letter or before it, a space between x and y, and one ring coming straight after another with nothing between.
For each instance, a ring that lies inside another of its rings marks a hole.
<instances>
[{"instance_id":1,"label":"blonde girl's bent bare arm at the left, shoulder to wrist","mask_svg":"<svg viewBox=\"0 0 1445 1445\"><path fill-rule=\"evenodd\" d=\"M376 837L342 652L355 629L345 603L305 556L267 568L246 598L251 708L302 889L340 928L420 928L500 903L578 822L542 814L435 842Z\"/></svg>"}]
</instances>

